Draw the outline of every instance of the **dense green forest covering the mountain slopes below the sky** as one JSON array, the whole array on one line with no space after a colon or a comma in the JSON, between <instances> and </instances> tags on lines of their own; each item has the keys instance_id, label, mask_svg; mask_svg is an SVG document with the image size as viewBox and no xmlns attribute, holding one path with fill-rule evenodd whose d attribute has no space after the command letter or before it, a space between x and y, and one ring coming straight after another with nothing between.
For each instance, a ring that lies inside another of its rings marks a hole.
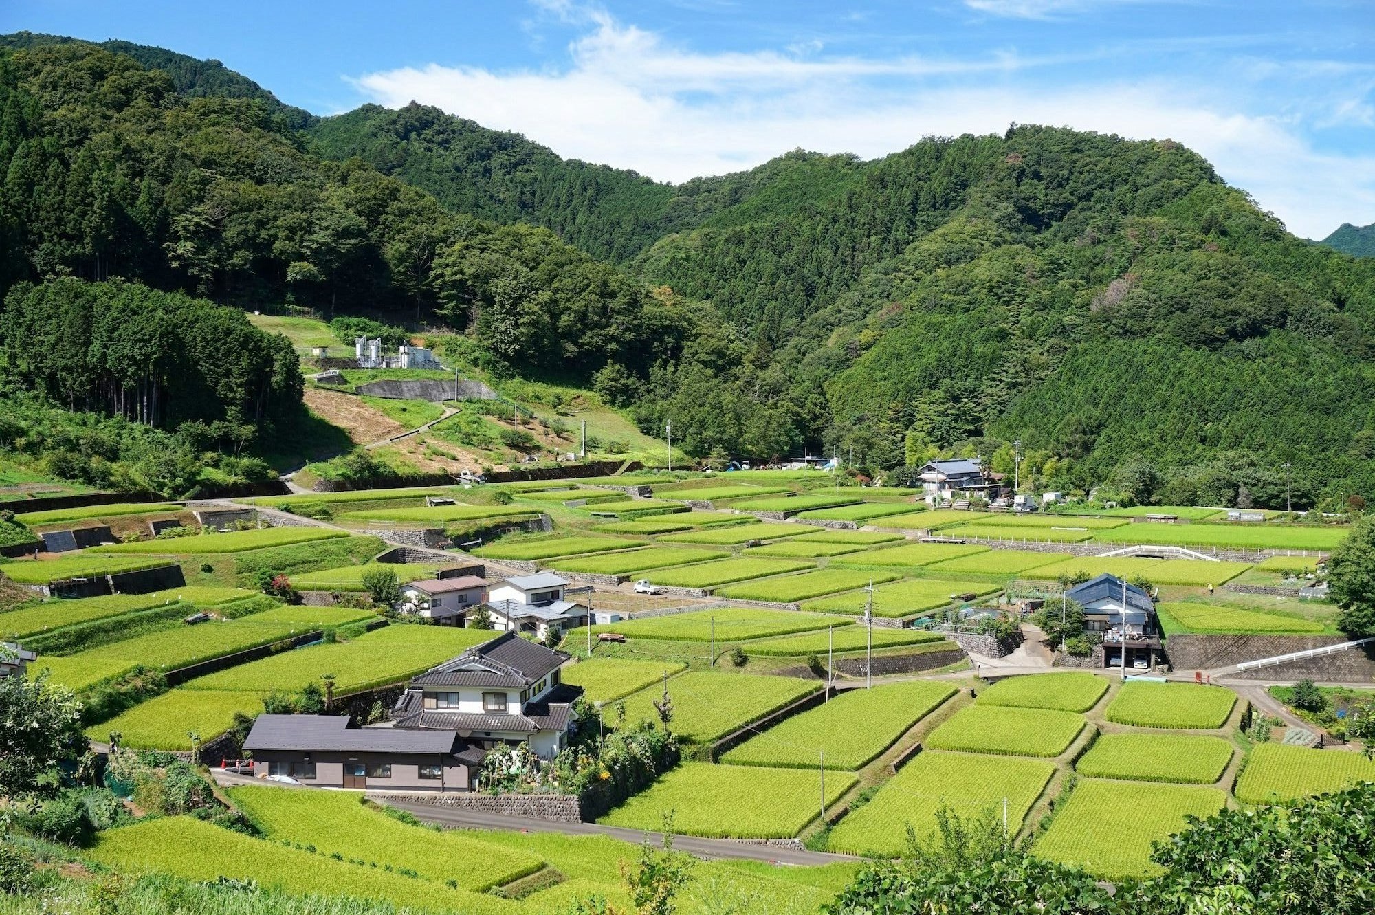
<instances>
[{"instance_id":1,"label":"dense green forest covering the mountain slopes below the sky","mask_svg":"<svg viewBox=\"0 0 1375 915\"><path fill-rule=\"evenodd\" d=\"M1375 497L1375 260L1170 140L1012 125L668 185L157 48L0 44L23 297L118 276L455 331L700 456L1004 470L1020 438L1030 485L1276 504L1288 463L1297 504Z\"/></svg>"}]
</instances>

